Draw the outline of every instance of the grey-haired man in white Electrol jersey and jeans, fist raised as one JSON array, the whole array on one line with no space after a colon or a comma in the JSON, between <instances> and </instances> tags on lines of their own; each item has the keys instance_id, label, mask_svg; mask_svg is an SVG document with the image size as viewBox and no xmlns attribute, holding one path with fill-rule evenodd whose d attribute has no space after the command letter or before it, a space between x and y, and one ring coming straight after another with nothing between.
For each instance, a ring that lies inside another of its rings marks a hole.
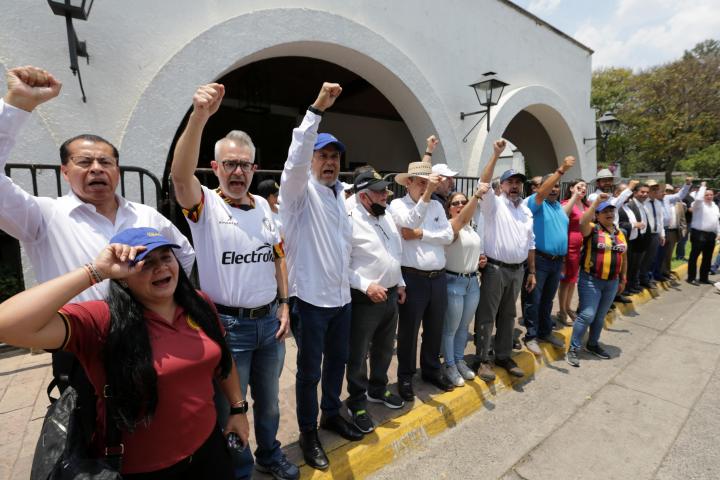
<instances>
[{"instance_id":1,"label":"grey-haired man in white Electrol jersey and jeans, fist raised","mask_svg":"<svg viewBox=\"0 0 720 480\"><path fill-rule=\"evenodd\" d=\"M248 385L251 388L256 468L275 478L297 479L300 470L277 441L280 373L289 328L287 269L270 205L248 191L257 168L250 137L233 130L215 144L210 166L220 184L217 189L201 185L195 176L203 129L224 94L225 87L218 83L196 90L170 174L195 243L200 288L215 303L225 327L244 398ZM227 402L218 403L220 424L233 408L246 408L242 403L229 410ZM236 477L249 478L253 463L249 448L233 454Z\"/></svg>"}]
</instances>

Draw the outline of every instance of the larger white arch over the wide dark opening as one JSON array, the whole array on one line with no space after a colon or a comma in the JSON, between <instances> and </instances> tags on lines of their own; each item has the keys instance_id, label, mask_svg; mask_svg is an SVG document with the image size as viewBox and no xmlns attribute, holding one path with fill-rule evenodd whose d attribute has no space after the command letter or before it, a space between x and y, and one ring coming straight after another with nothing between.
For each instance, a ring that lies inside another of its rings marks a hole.
<instances>
[{"instance_id":1,"label":"larger white arch over the wide dark opening","mask_svg":"<svg viewBox=\"0 0 720 480\"><path fill-rule=\"evenodd\" d=\"M323 28L332 24L333 28ZM345 17L297 8L237 16L198 35L158 72L142 93L121 140L125 161L162 174L172 139L198 85L265 58L323 59L369 81L397 109L419 151L438 133L454 138L445 109L415 64L387 39ZM287 79L292 88L292 78ZM319 88L319 86L318 86ZM308 104L314 100L308 98ZM161 121L162 119L162 121ZM290 132L288 132L288 141ZM436 161L460 158L449 142Z\"/></svg>"}]
</instances>

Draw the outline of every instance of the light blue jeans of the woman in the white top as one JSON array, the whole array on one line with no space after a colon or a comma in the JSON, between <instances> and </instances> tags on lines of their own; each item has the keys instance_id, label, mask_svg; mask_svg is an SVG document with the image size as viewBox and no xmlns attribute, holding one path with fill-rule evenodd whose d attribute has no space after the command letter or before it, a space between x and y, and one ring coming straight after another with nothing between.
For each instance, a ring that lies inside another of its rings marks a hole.
<instances>
[{"instance_id":1,"label":"light blue jeans of the woman in the white top","mask_svg":"<svg viewBox=\"0 0 720 480\"><path fill-rule=\"evenodd\" d=\"M465 356L468 327L480 301L478 277L446 274L448 306L443 321L442 352L447 365L455 365Z\"/></svg>"}]
</instances>

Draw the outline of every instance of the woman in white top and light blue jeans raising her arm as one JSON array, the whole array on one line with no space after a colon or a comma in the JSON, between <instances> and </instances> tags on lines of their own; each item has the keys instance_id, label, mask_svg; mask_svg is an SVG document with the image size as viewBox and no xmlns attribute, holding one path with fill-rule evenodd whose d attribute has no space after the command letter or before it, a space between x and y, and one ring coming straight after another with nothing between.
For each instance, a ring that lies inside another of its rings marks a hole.
<instances>
[{"instance_id":1,"label":"woman in white top and light blue jeans raising her arm","mask_svg":"<svg viewBox=\"0 0 720 480\"><path fill-rule=\"evenodd\" d=\"M455 238L445 247L445 275L447 276L448 306L445 310L442 333L442 353L445 358L443 374L456 387L475 373L465 363L468 326L480 301L479 268L487 262L482 255L482 237L470 224L478 201L488 191L486 183L478 185L468 200L462 192L453 192L445 202Z\"/></svg>"}]
</instances>

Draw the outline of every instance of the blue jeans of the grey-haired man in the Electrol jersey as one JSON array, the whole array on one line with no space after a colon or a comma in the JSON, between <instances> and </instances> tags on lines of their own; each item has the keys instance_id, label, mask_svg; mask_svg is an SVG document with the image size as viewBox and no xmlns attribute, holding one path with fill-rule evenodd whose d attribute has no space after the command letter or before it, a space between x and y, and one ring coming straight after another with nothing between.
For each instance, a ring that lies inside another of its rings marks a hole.
<instances>
[{"instance_id":1,"label":"blue jeans of the grey-haired man in the Electrol jersey","mask_svg":"<svg viewBox=\"0 0 720 480\"><path fill-rule=\"evenodd\" d=\"M250 385L257 442L255 457L264 466L284 455L275 438L280 424L280 373L285 361L285 342L275 338L280 326L276 312L277 304L268 315L256 319L219 315L225 326L225 341L235 359L243 398L247 398ZM221 426L225 426L229 413L229 405L224 402L224 408L218 411ZM252 474L253 456L249 448L233 455L233 466L237 478Z\"/></svg>"}]
</instances>

